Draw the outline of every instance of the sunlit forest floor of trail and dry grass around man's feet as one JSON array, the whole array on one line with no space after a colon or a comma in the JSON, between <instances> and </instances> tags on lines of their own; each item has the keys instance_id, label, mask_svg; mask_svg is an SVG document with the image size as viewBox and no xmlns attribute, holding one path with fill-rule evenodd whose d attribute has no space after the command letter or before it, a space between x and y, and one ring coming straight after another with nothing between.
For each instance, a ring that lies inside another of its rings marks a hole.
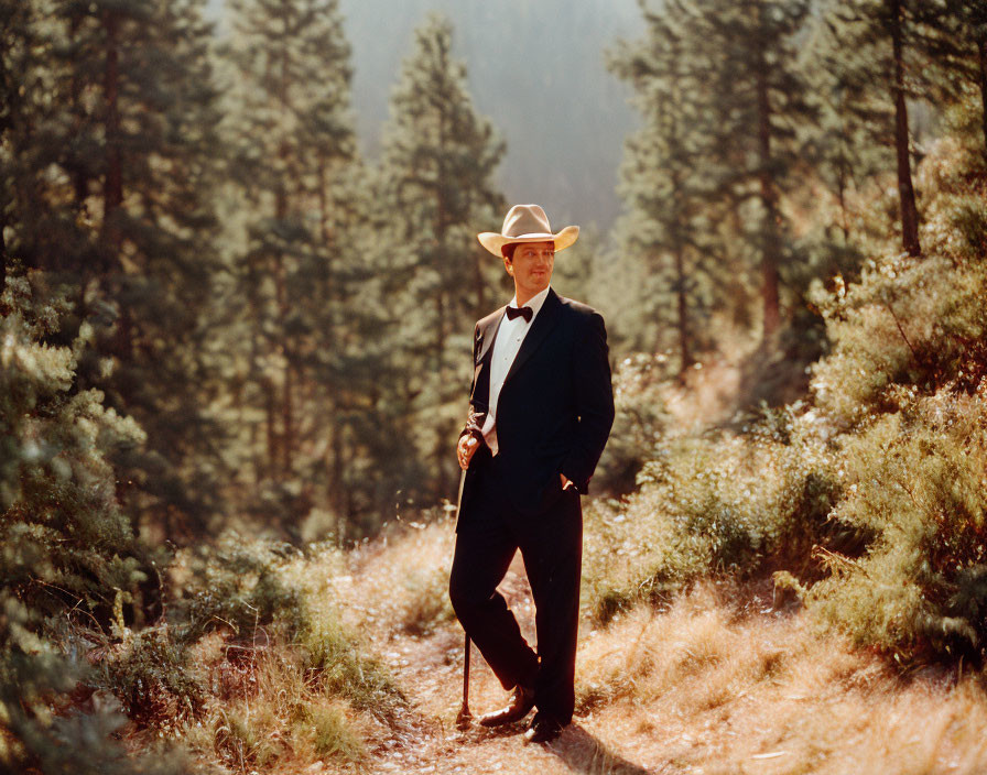
<instances>
[{"instance_id":1,"label":"sunlit forest floor of trail and dry grass around man's feet","mask_svg":"<svg viewBox=\"0 0 987 775\"><path fill-rule=\"evenodd\" d=\"M576 718L551 744L524 745L521 723L459 731L462 630L447 613L436 621L434 610L414 609L415 596L444 586L452 541L447 524L416 526L356 553L335 581L347 623L409 701L395 727L371 735L362 772L987 772L987 696L976 676L925 668L902 677L820 635L795 608L776 610L770 585L701 586L663 611L641 607L599 629L584 622ZM520 560L501 590L533 643ZM429 619L424 630L416 624ZM475 716L503 703L476 650L470 676Z\"/></svg>"}]
</instances>

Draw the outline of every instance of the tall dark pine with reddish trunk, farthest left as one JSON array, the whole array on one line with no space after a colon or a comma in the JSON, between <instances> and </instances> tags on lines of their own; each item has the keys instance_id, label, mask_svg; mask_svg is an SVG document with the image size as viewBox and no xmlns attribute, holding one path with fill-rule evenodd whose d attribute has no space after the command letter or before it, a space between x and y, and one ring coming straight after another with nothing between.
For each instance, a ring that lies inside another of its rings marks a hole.
<instances>
[{"instance_id":1,"label":"tall dark pine with reddish trunk, farthest left","mask_svg":"<svg viewBox=\"0 0 987 775\"><path fill-rule=\"evenodd\" d=\"M30 3L35 57L11 131L8 250L74 287L95 347L79 386L140 418L121 490L149 523L199 530L216 488L200 403L200 313L212 282L212 156L217 123L203 2ZM41 11L44 11L43 13Z\"/></svg>"}]
</instances>

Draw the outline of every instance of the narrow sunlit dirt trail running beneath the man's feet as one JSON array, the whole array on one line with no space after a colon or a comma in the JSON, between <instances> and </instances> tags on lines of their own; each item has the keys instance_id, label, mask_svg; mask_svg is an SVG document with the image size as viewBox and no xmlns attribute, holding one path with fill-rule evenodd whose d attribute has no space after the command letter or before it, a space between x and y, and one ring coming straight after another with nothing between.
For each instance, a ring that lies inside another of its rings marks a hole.
<instances>
[{"instance_id":1,"label":"narrow sunlit dirt trail running beneath the man's feet","mask_svg":"<svg viewBox=\"0 0 987 775\"><path fill-rule=\"evenodd\" d=\"M356 576L359 578L361 574ZM518 615L525 638L534 643L534 612L520 558L516 558L500 589ZM462 700L464 657L463 631L458 624L444 624L430 635L419 637L395 632L382 616L372 615L372 610L371 615L366 613L361 622L364 632L373 641L410 702L398 734L381 741L373 751L371 772L436 775L660 772L622 757L617 749L603 742L604 732L593 716L576 718L549 745L524 745L523 723L497 730L474 723L466 731L457 730L455 719ZM507 694L477 650L473 648L471 653L469 706L474 716L479 716L502 706Z\"/></svg>"}]
</instances>

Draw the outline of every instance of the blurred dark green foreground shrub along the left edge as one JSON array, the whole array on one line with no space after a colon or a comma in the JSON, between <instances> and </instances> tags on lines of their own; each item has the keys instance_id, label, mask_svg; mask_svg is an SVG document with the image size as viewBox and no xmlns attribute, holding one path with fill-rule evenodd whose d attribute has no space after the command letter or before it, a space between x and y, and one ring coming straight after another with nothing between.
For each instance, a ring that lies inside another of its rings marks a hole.
<instances>
[{"instance_id":1,"label":"blurred dark green foreground shrub along the left edge","mask_svg":"<svg viewBox=\"0 0 987 775\"><path fill-rule=\"evenodd\" d=\"M64 299L12 273L0 309L0 766L189 772L174 752L130 757L112 740L126 722L119 708L84 712L69 694L98 676L88 644L68 635L85 625L104 637L124 611L144 619L142 586L163 559L135 537L110 463L143 433L98 391L73 392L87 327L72 348L44 343Z\"/></svg>"}]
</instances>

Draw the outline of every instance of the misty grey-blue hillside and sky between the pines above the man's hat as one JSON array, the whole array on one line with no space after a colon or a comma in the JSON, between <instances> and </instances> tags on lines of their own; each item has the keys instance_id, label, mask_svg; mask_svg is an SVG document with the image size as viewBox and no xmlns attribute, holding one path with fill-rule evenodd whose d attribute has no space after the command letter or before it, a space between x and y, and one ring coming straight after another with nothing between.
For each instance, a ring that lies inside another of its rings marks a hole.
<instances>
[{"instance_id":1,"label":"misty grey-blue hillside and sky between the pines above the man's hat","mask_svg":"<svg viewBox=\"0 0 987 775\"><path fill-rule=\"evenodd\" d=\"M507 140L496 181L511 201L544 206L554 223L606 231L623 139L637 122L630 89L607 72L608 47L641 30L636 0L340 0L352 46L352 103L360 148L380 152L380 128L412 32L429 11L455 26L477 110ZM223 35L224 0L209 0Z\"/></svg>"}]
</instances>

